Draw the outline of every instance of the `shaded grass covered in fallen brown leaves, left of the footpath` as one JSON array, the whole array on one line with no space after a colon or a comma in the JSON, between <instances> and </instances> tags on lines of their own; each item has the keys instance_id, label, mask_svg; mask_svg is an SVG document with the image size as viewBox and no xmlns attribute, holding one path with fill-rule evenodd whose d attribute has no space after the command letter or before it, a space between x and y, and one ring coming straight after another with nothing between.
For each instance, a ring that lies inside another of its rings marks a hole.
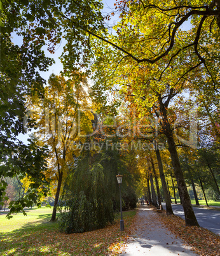
<instances>
[{"instance_id":1,"label":"shaded grass covered in fallen brown leaves, left of the footpath","mask_svg":"<svg viewBox=\"0 0 220 256\"><path fill-rule=\"evenodd\" d=\"M17 230L0 234L1 255L119 255L124 248L135 215L125 217L125 231L120 220L104 229L78 234L41 229Z\"/></svg>"}]
</instances>

